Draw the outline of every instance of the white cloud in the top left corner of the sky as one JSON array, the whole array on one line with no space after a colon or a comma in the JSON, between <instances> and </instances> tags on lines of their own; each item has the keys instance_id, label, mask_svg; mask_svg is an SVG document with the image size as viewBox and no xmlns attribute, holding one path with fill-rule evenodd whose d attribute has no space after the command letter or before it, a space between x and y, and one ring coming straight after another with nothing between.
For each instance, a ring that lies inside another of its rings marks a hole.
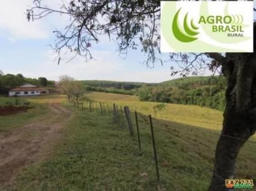
<instances>
[{"instance_id":1,"label":"white cloud in the top left corner of the sky","mask_svg":"<svg viewBox=\"0 0 256 191\"><path fill-rule=\"evenodd\" d=\"M45 0L44 5L58 9L61 0ZM1 2L0 33L13 42L16 39L42 39L51 36L56 27L64 27L67 17L49 15L36 21L27 21L27 9L33 5L32 0L8 0Z\"/></svg>"}]
</instances>

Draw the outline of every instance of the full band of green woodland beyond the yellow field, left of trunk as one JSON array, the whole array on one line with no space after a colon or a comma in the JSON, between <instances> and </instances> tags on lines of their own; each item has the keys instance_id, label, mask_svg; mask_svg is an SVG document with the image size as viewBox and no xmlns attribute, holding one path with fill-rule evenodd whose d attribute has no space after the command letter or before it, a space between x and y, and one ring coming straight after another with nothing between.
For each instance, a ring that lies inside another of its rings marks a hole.
<instances>
[{"instance_id":1,"label":"full band of green woodland beyond the yellow field, left of trunk","mask_svg":"<svg viewBox=\"0 0 256 191\"><path fill-rule=\"evenodd\" d=\"M223 111L226 80L223 76L188 77L158 84L82 81L87 91L138 95L140 101L201 105Z\"/></svg>"}]
</instances>

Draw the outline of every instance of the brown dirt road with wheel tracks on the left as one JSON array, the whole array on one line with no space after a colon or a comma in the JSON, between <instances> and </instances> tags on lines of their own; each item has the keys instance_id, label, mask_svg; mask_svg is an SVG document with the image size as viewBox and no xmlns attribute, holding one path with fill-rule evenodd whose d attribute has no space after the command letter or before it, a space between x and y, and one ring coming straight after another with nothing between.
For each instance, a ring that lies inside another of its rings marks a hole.
<instances>
[{"instance_id":1,"label":"brown dirt road with wheel tracks on the left","mask_svg":"<svg viewBox=\"0 0 256 191\"><path fill-rule=\"evenodd\" d=\"M50 117L0 135L0 186L11 183L24 166L51 154L71 112L56 101L49 103L49 108Z\"/></svg>"}]
</instances>

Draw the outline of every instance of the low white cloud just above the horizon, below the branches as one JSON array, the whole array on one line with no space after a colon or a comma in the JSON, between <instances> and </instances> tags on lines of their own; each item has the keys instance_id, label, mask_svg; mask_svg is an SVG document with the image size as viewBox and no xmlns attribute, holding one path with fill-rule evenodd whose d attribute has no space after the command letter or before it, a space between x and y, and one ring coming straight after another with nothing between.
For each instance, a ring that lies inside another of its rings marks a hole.
<instances>
[{"instance_id":1,"label":"low white cloud just above the horizon, below the branches","mask_svg":"<svg viewBox=\"0 0 256 191\"><path fill-rule=\"evenodd\" d=\"M77 56L70 62L61 62L59 65L53 51L48 51L45 54L47 61L27 68L24 71L25 76L34 78L45 76L52 80L58 80L59 76L67 74L76 80L107 79L109 76L113 76L115 71L122 70L122 65L114 60L111 52L94 51L97 60L84 62L83 57Z\"/></svg>"}]
</instances>

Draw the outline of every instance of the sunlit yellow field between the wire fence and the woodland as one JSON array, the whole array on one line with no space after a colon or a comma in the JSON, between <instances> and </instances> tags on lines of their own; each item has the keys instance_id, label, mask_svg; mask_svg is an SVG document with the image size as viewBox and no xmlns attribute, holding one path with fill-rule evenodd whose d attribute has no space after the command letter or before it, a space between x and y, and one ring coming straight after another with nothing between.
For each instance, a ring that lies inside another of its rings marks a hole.
<instances>
[{"instance_id":1,"label":"sunlit yellow field between the wire fence and the woodland","mask_svg":"<svg viewBox=\"0 0 256 191\"><path fill-rule=\"evenodd\" d=\"M133 111L136 110L145 115L151 114L152 116L154 116L154 106L159 104L156 102L138 101L138 98L132 95L125 95L123 97L123 95L102 92L93 92L91 94L87 94L86 97L94 101L106 102L111 107L112 103L122 106L127 105ZM154 117L217 131L221 130L223 119L222 113L215 109L209 109L207 107L200 107L197 105L178 104L166 104L166 107L161 111L157 111Z\"/></svg>"}]
</instances>

